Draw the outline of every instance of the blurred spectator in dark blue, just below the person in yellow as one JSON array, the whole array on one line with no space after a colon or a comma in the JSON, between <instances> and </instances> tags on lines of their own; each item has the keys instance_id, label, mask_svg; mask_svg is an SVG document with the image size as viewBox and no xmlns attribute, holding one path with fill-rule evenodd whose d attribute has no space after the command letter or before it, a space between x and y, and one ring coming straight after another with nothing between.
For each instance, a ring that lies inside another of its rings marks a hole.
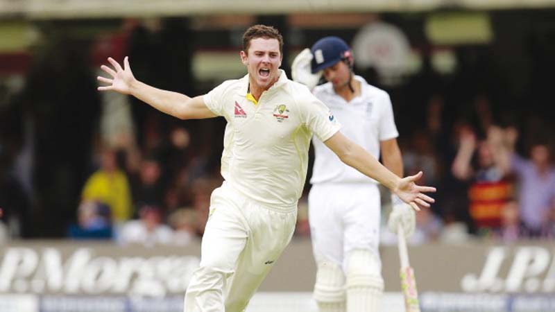
<instances>
[{"instance_id":1,"label":"blurred spectator in dark blue, just below the person in yellow","mask_svg":"<svg viewBox=\"0 0 555 312\"><path fill-rule=\"evenodd\" d=\"M71 239L112 239L110 207L101 202L84 200L77 209L77 223L69 226Z\"/></svg>"}]
</instances>

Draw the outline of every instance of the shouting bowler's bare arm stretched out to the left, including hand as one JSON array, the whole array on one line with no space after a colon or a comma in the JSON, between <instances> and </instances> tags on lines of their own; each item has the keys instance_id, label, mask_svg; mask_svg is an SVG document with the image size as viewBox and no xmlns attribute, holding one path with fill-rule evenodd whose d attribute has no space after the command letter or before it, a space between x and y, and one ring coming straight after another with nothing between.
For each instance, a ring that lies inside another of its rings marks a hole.
<instances>
[{"instance_id":1,"label":"shouting bowler's bare arm stretched out to the left, including hand","mask_svg":"<svg viewBox=\"0 0 555 312\"><path fill-rule=\"evenodd\" d=\"M160 112L164 112L179 119L203 119L215 117L211 110L206 107L203 96L196 96L190 98L185 94L178 92L171 92L167 90L157 89L146 85L135 79L131 67L129 66L129 59L123 59L123 67L114 60L108 58L108 62L112 67L102 65L101 69L108 73L111 78L99 76L96 79L108 85L99 87L99 91L116 91L122 94L130 94L139 100L151 105Z\"/></svg>"}]
</instances>

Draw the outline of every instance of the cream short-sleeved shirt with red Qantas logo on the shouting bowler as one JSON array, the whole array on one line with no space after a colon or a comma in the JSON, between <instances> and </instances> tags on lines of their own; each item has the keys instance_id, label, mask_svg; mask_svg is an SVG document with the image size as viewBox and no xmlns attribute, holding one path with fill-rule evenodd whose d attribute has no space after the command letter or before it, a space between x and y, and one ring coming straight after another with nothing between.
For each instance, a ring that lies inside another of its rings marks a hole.
<instances>
[{"instance_id":1,"label":"cream short-sleeved shirt with red Qantas logo on the shouting bowler","mask_svg":"<svg viewBox=\"0 0 555 312\"><path fill-rule=\"evenodd\" d=\"M305 85L280 71L279 80L257 104L247 97L248 75L225 81L203 99L214 114L228 121L223 178L248 198L291 207L305 185L312 134L325 141L341 126Z\"/></svg>"}]
</instances>

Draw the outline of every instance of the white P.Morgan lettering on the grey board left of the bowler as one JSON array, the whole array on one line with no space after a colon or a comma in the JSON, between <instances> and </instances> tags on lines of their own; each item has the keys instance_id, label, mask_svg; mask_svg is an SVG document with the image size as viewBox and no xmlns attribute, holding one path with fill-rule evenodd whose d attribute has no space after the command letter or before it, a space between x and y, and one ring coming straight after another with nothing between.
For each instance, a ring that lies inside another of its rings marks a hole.
<instances>
[{"instance_id":1,"label":"white P.Morgan lettering on the grey board left of the bowler","mask_svg":"<svg viewBox=\"0 0 555 312\"><path fill-rule=\"evenodd\" d=\"M6 248L0 262L0 293L68 295L183 293L200 259L192 256L105 256L78 248Z\"/></svg>"}]
</instances>

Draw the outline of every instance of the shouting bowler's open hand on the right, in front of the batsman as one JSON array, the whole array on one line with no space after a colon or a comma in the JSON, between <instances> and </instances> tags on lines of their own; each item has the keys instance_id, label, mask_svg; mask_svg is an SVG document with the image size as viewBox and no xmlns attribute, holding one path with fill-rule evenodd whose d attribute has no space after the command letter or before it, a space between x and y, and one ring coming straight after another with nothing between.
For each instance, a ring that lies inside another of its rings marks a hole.
<instances>
[{"instance_id":1,"label":"shouting bowler's open hand on the right, in front of the batsman","mask_svg":"<svg viewBox=\"0 0 555 312\"><path fill-rule=\"evenodd\" d=\"M424 193L426 192L435 192L435 187L422 187L420 185L416 185L416 181L422 177L422 171L416 173L416 175L409 175L408 177L404 177L400 180L397 188L393 190L399 198L401 198L404 202L411 205L413 209L416 211L420 211L421 207L429 207L429 205L435 202L434 198L431 198Z\"/></svg>"}]
</instances>

